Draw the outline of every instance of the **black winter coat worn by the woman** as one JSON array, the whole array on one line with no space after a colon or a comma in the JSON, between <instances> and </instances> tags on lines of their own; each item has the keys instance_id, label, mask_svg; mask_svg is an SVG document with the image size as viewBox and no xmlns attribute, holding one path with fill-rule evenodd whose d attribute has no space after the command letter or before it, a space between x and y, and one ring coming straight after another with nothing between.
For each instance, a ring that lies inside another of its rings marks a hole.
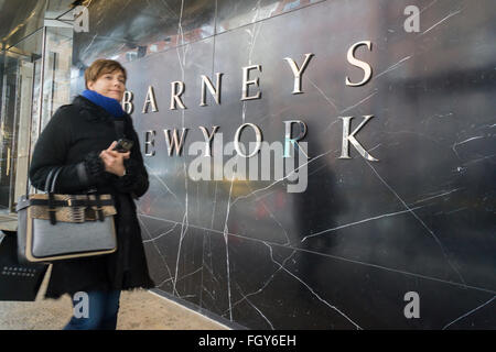
<instances>
[{"instance_id":1,"label":"black winter coat worn by the woman","mask_svg":"<svg viewBox=\"0 0 496 352\"><path fill-rule=\"evenodd\" d=\"M125 160L126 175L105 170L99 157L118 135L115 121L123 121L123 134L133 140L130 158ZM96 189L111 194L117 251L112 254L54 262L45 298L58 298L76 292L152 288L144 256L136 204L149 187L138 135L129 114L110 116L104 108L78 96L72 105L61 107L52 117L34 147L30 166L31 184L44 189L48 172L63 166L55 193L80 194Z\"/></svg>"}]
</instances>

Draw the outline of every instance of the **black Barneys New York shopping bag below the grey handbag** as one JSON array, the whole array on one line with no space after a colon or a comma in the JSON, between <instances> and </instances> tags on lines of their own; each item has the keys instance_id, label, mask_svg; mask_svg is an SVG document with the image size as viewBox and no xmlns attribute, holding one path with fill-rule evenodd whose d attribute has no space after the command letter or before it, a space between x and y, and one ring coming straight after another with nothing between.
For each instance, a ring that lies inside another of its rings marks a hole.
<instances>
[{"instance_id":1,"label":"black Barneys New York shopping bag below the grey handbag","mask_svg":"<svg viewBox=\"0 0 496 352\"><path fill-rule=\"evenodd\" d=\"M47 268L19 263L15 232L0 233L0 300L34 301Z\"/></svg>"}]
</instances>

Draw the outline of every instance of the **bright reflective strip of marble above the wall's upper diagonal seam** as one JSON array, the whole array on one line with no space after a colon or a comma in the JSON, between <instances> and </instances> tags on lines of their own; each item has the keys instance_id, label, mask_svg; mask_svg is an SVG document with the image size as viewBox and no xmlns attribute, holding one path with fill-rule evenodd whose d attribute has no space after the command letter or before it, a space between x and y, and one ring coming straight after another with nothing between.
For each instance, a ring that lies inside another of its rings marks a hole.
<instances>
[{"instance_id":1,"label":"bright reflective strip of marble above the wall's upper diagonal seam","mask_svg":"<svg viewBox=\"0 0 496 352\"><path fill-rule=\"evenodd\" d=\"M94 0L87 3L89 31L77 35L76 65L98 57L131 62L320 1Z\"/></svg>"}]
</instances>

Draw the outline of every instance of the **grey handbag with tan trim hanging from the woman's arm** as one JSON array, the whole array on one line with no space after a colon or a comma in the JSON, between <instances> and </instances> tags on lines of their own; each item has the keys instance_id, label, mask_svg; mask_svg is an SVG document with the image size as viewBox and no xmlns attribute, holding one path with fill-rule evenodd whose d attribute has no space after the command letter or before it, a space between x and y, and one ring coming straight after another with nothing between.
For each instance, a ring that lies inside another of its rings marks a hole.
<instances>
[{"instance_id":1,"label":"grey handbag with tan trim hanging from the woman's arm","mask_svg":"<svg viewBox=\"0 0 496 352\"><path fill-rule=\"evenodd\" d=\"M53 262L117 251L117 211L111 195L56 195L61 170L51 169L45 194L23 195L15 207L21 262Z\"/></svg>"}]
</instances>

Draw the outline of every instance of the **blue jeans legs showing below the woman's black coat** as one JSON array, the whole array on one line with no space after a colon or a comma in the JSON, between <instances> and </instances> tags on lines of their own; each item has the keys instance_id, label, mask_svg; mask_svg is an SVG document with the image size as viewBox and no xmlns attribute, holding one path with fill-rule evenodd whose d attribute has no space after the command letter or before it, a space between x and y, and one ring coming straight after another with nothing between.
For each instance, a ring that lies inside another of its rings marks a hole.
<instances>
[{"instance_id":1,"label":"blue jeans legs showing below the woman's black coat","mask_svg":"<svg viewBox=\"0 0 496 352\"><path fill-rule=\"evenodd\" d=\"M120 290L94 290L87 295L87 300L76 295L73 297L74 315L64 330L116 330ZM83 314L84 304L87 304L87 314Z\"/></svg>"}]
</instances>

